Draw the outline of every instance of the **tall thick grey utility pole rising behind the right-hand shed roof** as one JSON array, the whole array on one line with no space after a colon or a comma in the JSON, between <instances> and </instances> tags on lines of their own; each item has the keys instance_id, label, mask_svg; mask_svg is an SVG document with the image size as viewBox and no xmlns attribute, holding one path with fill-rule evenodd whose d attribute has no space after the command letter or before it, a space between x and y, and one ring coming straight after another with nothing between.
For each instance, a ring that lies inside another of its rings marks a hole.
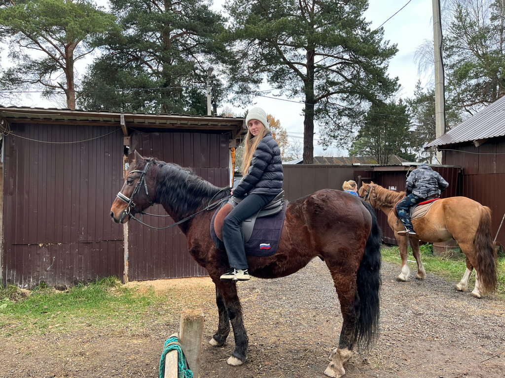
<instances>
[{"instance_id":1,"label":"tall thick grey utility pole rising behind the right-hand shed roof","mask_svg":"<svg viewBox=\"0 0 505 378\"><path fill-rule=\"evenodd\" d=\"M442 24L440 0L431 0L433 5L433 49L435 57L435 137L445 133L445 88L442 61ZM437 151L437 161L442 164L442 152Z\"/></svg>"}]
</instances>

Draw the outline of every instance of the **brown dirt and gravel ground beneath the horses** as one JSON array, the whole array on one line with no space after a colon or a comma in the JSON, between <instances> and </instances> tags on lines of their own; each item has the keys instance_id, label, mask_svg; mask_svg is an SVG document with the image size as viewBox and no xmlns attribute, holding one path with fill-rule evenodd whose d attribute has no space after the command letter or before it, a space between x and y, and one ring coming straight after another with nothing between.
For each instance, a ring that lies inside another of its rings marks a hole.
<instances>
[{"instance_id":1,"label":"brown dirt and gravel ground beneath the horses","mask_svg":"<svg viewBox=\"0 0 505 378\"><path fill-rule=\"evenodd\" d=\"M475 299L456 282L428 273L426 280L397 282L399 266L383 263L381 335L346 365L347 378L502 378L505 376L505 300ZM462 272L463 274L463 272ZM234 342L212 347L217 325L209 278L159 280L129 285L176 285L198 293L204 310L200 377L323 377L338 343L341 315L329 272L319 259L289 277L239 283L249 336L245 364L226 364ZM180 313L180 312L179 312ZM180 315L179 315L180 316ZM179 316L146 323L141 331L86 330L0 342L0 377L154 377L163 343L178 331Z\"/></svg>"}]
</instances>

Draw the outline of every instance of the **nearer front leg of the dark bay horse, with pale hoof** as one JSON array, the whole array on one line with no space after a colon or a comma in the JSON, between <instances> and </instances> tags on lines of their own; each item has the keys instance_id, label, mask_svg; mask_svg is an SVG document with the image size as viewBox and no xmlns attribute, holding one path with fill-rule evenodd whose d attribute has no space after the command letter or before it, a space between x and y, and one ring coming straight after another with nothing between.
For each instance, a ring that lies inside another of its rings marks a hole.
<instances>
[{"instance_id":1,"label":"nearer front leg of the dark bay horse, with pale hoof","mask_svg":"<svg viewBox=\"0 0 505 378\"><path fill-rule=\"evenodd\" d=\"M242 305L238 299L236 284L220 281L217 278L214 281L217 290L221 293L223 303L226 307L227 317L231 322L233 337L235 339L235 350L226 361L229 365L239 366L244 363L249 346L249 338L245 332L242 318Z\"/></svg>"}]
</instances>

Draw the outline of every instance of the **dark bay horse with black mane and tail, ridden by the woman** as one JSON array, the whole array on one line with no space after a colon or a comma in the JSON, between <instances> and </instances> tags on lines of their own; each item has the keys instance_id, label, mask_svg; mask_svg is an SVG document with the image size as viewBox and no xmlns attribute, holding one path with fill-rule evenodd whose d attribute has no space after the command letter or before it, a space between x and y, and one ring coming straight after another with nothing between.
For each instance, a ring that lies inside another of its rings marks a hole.
<instances>
[{"instance_id":1,"label":"dark bay horse with black mane and tail, ridden by the woman","mask_svg":"<svg viewBox=\"0 0 505 378\"><path fill-rule=\"evenodd\" d=\"M127 173L111 208L111 216L118 223L126 223L131 215L154 203L161 204L178 222L205 209L211 200L230 194L230 188L219 188L188 169L143 158L136 151ZM245 361L248 337L236 284L219 279L229 265L226 252L216 249L210 236L213 213L213 210L200 212L179 227L187 237L189 253L207 269L216 285L219 323L209 343L223 345L231 322L235 350L227 362L240 365ZM343 365L351 357L353 347L367 346L377 336L380 245L380 229L372 207L357 196L326 189L288 204L280 245L274 255L247 257L249 273L260 278L287 276L316 257L324 259L333 277L343 318L338 348L331 352L325 370L328 376L342 376Z\"/></svg>"}]
</instances>

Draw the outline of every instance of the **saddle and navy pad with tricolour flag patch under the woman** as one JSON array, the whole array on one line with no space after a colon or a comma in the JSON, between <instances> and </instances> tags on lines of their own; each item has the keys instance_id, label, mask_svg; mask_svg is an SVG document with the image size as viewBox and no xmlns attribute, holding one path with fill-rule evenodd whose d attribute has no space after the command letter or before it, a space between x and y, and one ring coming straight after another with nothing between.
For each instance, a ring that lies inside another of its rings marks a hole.
<instances>
[{"instance_id":1,"label":"saddle and navy pad with tricolour flag patch under the woman","mask_svg":"<svg viewBox=\"0 0 505 378\"><path fill-rule=\"evenodd\" d=\"M242 234L247 255L268 256L277 250L287 207L287 201L283 198L284 191L275 196L259 212L242 221ZM224 249L224 219L241 201L242 198L232 197L214 213L211 221L211 236L216 243L216 248ZM261 218L264 219L257 222Z\"/></svg>"}]
</instances>

